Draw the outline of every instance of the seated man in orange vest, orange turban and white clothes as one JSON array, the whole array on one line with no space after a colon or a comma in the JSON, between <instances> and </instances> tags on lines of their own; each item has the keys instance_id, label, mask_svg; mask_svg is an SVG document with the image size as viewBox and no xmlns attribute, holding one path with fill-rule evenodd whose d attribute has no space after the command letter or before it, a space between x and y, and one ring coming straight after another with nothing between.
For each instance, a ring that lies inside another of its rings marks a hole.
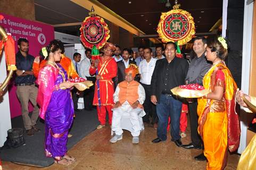
<instances>
[{"instance_id":1,"label":"seated man in orange vest, orange turban and white clothes","mask_svg":"<svg viewBox=\"0 0 256 170\"><path fill-rule=\"evenodd\" d=\"M139 133L144 129L139 121L145 115L142 104L145 100L145 90L141 84L134 80L138 69L135 64L130 64L125 69L125 81L118 84L114 92L114 109L112 117L112 131L114 137L110 140L115 143L122 139L121 118L124 114L129 114L130 122L133 126L133 143L139 143Z\"/></svg>"}]
</instances>

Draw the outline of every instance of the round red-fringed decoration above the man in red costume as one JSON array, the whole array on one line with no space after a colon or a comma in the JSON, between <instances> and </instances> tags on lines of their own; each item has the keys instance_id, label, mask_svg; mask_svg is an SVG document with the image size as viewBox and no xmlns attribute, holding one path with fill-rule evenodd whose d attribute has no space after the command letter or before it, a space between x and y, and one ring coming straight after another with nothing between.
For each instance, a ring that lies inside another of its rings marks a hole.
<instances>
[{"instance_id":1,"label":"round red-fringed decoration above the man in red costume","mask_svg":"<svg viewBox=\"0 0 256 170\"><path fill-rule=\"evenodd\" d=\"M88 16L81 24L80 40L85 47L92 49L95 45L102 48L110 38L108 25L99 16Z\"/></svg>"}]
</instances>

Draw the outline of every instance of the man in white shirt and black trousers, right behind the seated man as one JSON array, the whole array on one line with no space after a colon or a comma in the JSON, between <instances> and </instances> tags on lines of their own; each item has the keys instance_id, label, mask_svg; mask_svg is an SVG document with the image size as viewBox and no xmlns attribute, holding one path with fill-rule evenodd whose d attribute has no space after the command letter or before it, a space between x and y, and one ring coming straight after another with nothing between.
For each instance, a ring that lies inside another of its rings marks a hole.
<instances>
[{"instance_id":1,"label":"man in white shirt and black trousers, right behind the seated man","mask_svg":"<svg viewBox=\"0 0 256 170\"><path fill-rule=\"evenodd\" d=\"M144 48L144 58L141 63L139 63L139 75L141 77L141 84L145 89L146 99L143 104L144 111L146 115L143 117L143 122L150 123L150 116L152 118L153 124L155 124L158 119L156 115L156 108L153 103L151 103L150 96L151 96L151 77L155 68L156 59L152 58L152 49L149 47Z\"/></svg>"}]
</instances>

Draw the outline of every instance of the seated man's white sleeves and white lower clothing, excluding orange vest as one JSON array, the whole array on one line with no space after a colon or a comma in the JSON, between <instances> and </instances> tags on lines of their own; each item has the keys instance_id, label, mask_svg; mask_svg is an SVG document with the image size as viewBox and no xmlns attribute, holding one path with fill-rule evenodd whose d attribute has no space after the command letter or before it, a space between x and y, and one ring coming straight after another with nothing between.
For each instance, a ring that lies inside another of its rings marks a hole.
<instances>
[{"instance_id":1,"label":"seated man's white sleeves and white lower clothing, excluding orange vest","mask_svg":"<svg viewBox=\"0 0 256 170\"><path fill-rule=\"evenodd\" d=\"M119 101L119 84L114 92L114 103L117 103ZM145 101L145 90L142 87L141 84L138 86L138 101L139 104L143 104ZM122 125L121 125L121 118L122 116L128 115L129 120L131 122L131 125L133 126L133 131L131 131L131 135L133 137L138 137L139 133L144 129L144 125L142 122L142 117L145 115L145 112L142 108L132 108L128 101L126 100L120 107L113 109L113 116L112 116L112 131L115 132L117 135L121 135L123 133L122 131Z\"/></svg>"}]
</instances>

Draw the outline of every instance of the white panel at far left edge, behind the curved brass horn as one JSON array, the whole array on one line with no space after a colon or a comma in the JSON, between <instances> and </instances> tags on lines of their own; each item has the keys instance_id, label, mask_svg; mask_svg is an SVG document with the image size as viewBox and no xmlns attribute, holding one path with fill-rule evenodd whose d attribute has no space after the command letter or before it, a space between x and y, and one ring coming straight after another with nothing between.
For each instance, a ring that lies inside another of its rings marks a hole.
<instances>
[{"instance_id":1,"label":"white panel at far left edge, behind the curved brass horn","mask_svg":"<svg viewBox=\"0 0 256 170\"><path fill-rule=\"evenodd\" d=\"M0 55L0 73L0 82L2 83L6 78L4 52ZM3 98L0 97L0 111L0 147L2 147L7 137L7 130L12 128L8 91L4 94Z\"/></svg>"}]
</instances>

